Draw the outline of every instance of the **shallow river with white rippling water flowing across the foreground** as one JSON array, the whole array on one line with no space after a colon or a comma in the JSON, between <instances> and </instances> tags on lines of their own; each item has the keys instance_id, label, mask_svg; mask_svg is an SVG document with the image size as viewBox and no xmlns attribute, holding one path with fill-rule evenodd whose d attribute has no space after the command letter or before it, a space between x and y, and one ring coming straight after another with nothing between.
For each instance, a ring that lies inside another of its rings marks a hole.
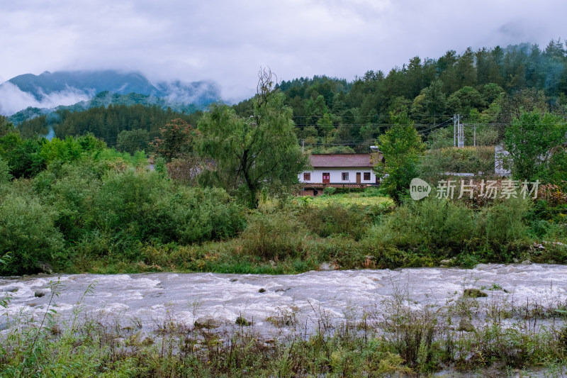
<instances>
[{"instance_id":1,"label":"shallow river with white rippling water flowing across the foreground","mask_svg":"<svg viewBox=\"0 0 567 378\"><path fill-rule=\"evenodd\" d=\"M40 319L52 301L62 318L79 311L122 324L135 322L147 330L167 319L192 326L207 317L229 325L242 316L259 332L285 333L282 324L313 330L322 321L360 321L370 309L381 313L396 300L416 309L444 306L466 288L482 289L488 296L478 301L487 303L561 307L566 304L567 266L0 277L0 299L10 296L9 305L0 308L0 330L18 316Z\"/></svg>"}]
</instances>

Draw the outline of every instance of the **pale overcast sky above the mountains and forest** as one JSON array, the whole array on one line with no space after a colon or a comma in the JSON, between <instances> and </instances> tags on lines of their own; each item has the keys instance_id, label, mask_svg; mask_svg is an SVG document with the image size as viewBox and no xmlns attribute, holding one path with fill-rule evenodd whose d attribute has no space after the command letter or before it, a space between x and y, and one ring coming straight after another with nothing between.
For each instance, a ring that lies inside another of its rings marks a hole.
<instances>
[{"instance_id":1,"label":"pale overcast sky above the mountains and forest","mask_svg":"<svg viewBox=\"0 0 567 378\"><path fill-rule=\"evenodd\" d=\"M211 79L249 96L260 66L280 79L437 58L449 49L567 38L562 0L0 0L0 82L57 70Z\"/></svg>"}]
</instances>

